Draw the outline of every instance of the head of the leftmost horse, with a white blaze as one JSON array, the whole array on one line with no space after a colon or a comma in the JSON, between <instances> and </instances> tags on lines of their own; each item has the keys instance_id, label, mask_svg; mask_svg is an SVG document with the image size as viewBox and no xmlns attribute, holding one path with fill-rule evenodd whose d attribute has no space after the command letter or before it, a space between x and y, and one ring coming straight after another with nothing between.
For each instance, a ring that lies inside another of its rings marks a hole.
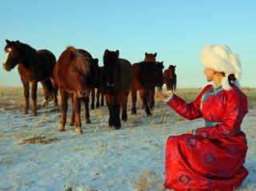
<instances>
[{"instance_id":1,"label":"head of the leftmost horse, with a white blaze","mask_svg":"<svg viewBox=\"0 0 256 191\"><path fill-rule=\"evenodd\" d=\"M18 63L21 63L24 61L24 56L21 53L20 47L22 46L22 43L19 41L16 42L10 42L6 39L6 58L2 64L2 67L6 71L10 71L14 69L15 66L18 65Z\"/></svg>"}]
</instances>

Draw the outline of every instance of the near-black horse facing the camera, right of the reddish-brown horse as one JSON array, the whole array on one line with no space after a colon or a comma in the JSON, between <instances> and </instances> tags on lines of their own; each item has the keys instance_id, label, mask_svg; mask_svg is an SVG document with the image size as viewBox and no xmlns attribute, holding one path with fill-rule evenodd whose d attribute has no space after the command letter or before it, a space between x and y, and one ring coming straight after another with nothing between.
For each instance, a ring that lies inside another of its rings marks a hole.
<instances>
[{"instance_id":1,"label":"near-black horse facing the camera, right of the reddish-brown horse","mask_svg":"<svg viewBox=\"0 0 256 191\"><path fill-rule=\"evenodd\" d=\"M120 105L122 121L127 121L127 98L133 82L132 65L119 58L119 50L105 50L103 56L102 88L109 110L109 126L120 129Z\"/></svg>"}]
</instances>

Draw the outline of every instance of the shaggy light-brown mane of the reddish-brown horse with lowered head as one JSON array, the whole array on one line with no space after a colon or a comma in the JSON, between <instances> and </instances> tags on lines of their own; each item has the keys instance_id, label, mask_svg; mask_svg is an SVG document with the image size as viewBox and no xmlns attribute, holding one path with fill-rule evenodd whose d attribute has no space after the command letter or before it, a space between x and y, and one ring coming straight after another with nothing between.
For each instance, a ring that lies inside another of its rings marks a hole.
<instances>
[{"instance_id":1,"label":"shaggy light-brown mane of the reddish-brown horse with lowered head","mask_svg":"<svg viewBox=\"0 0 256 191\"><path fill-rule=\"evenodd\" d=\"M79 74L87 76L90 73L90 65L83 54L79 53L79 50L75 49L73 46L68 46L66 50L71 54L71 66L73 66L74 71L78 71Z\"/></svg>"}]
</instances>

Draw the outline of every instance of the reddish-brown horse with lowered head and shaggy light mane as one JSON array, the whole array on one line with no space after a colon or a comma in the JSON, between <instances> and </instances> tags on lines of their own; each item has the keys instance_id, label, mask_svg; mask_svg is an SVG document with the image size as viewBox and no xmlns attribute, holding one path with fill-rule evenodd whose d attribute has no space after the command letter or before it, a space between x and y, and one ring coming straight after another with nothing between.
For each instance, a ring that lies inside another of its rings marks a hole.
<instances>
[{"instance_id":1,"label":"reddish-brown horse with lowered head and shaggy light mane","mask_svg":"<svg viewBox=\"0 0 256 191\"><path fill-rule=\"evenodd\" d=\"M54 82L58 85L62 97L62 116L60 125L58 126L59 132L65 131L68 98L71 95L73 106L71 121L74 118L76 126L75 133L82 133L80 118L81 101L86 99L86 106L88 108L90 88L87 80L89 74L89 59L84 57L81 50L79 51L73 46L68 46L62 52L58 58L58 62L54 66Z\"/></svg>"}]
</instances>

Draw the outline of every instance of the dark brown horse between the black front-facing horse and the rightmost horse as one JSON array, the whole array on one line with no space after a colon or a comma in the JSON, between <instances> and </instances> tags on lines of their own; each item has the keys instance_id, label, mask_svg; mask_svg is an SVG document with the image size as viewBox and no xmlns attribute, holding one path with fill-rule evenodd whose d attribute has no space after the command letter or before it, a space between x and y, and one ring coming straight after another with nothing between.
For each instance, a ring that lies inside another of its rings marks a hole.
<instances>
[{"instance_id":1,"label":"dark brown horse between the black front-facing horse and the rightmost horse","mask_svg":"<svg viewBox=\"0 0 256 191\"><path fill-rule=\"evenodd\" d=\"M150 102L151 107L154 106L154 88L158 84L162 84L162 68L163 62L138 62L133 64L134 82L130 90L132 95L131 114L137 114L136 101L137 90L139 90L147 116L152 115L148 102Z\"/></svg>"}]
</instances>

